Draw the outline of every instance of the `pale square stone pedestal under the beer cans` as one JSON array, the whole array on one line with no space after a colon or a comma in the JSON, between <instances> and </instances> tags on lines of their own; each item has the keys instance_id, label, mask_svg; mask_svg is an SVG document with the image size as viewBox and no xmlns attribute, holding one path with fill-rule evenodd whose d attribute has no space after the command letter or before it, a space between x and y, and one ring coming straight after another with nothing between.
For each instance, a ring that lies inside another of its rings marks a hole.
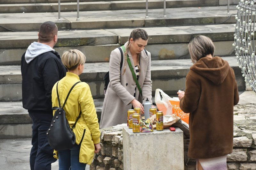
<instances>
[{"instance_id":1,"label":"pale square stone pedestal under the beer cans","mask_svg":"<svg viewBox=\"0 0 256 170\"><path fill-rule=\"evenodd\" d=\"M124 170L184 170L183 131L133 133L123 128Z\"/></svg>"}]
</instances>

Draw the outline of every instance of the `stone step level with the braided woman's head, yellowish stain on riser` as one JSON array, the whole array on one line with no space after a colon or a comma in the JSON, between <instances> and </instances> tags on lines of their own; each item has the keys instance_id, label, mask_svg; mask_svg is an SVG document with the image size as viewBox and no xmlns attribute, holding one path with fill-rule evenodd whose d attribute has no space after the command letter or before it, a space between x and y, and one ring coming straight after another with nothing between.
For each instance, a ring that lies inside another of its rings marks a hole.
<instances>
[{"instance_id":1,"label":"stone step level with the braided woman's head, yellowish stain on riser","mask_svg":"<svg viewBox=\"0 0 256 170\"><path fill-rule=\"evenodd\" d=\"M54 49L62 55L63 51L76 48L85 54L87 63L107 62L111 51L129 39L132 29L59 31ZM189 58L188 43L199 34L212 39L218 49L215 55L234 55L233 24L144 29L149 35L146 49L152 60ZM21 55L36 39L36 32L0 32L0 65L20 64Z\"/></svg>"}]
</instances>

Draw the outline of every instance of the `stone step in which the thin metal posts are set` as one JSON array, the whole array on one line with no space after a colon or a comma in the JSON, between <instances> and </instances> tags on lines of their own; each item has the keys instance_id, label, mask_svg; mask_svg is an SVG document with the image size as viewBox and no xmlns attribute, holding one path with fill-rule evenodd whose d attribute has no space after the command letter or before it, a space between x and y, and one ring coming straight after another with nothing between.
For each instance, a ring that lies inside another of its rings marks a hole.
<instances>
[{"instance_id":1,"label":"stone step in which the thin metal posts are set","mask_svg":"<svg viewBox=\"0 0 256 170\"><path fill-rule=\"evenodd\" d=\"M237 13L236 6L230 6L230 13ZM226 6L167 8L166 18L163 9L149 9L149 18L145 18L145 10L81 11L80 21L76 15L75 11L62 12L62 22L58 22L58 12L4 13L0 14L0 31L38 31L41 23L49 20L55 21L59 30L236 23L235 15L227 15Z\"/></svg>"}]
</instances>

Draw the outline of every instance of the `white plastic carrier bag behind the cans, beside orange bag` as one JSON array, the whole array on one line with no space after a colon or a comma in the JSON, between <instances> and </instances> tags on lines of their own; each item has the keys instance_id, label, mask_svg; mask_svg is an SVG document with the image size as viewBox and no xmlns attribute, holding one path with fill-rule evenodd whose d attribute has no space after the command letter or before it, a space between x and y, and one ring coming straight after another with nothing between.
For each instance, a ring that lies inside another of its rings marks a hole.
<instances>
[{"instance_id":1,"label":"white plastic carrier bag behind the cans, beside orange bag","mask_svg":"<svg viewBox=\"0 0 256 170\"><path fill-rule=\"evenodd\" d=\"M161 100L160 92L163 97L162 100ZM164 115L172 115L172 104L170 103L169 100L173 100L173 99L167 94L165 94L163 90L156 89L156 94L155 94L156 106L159 111L163 112Z\"/></svg>"}]
</instances>

